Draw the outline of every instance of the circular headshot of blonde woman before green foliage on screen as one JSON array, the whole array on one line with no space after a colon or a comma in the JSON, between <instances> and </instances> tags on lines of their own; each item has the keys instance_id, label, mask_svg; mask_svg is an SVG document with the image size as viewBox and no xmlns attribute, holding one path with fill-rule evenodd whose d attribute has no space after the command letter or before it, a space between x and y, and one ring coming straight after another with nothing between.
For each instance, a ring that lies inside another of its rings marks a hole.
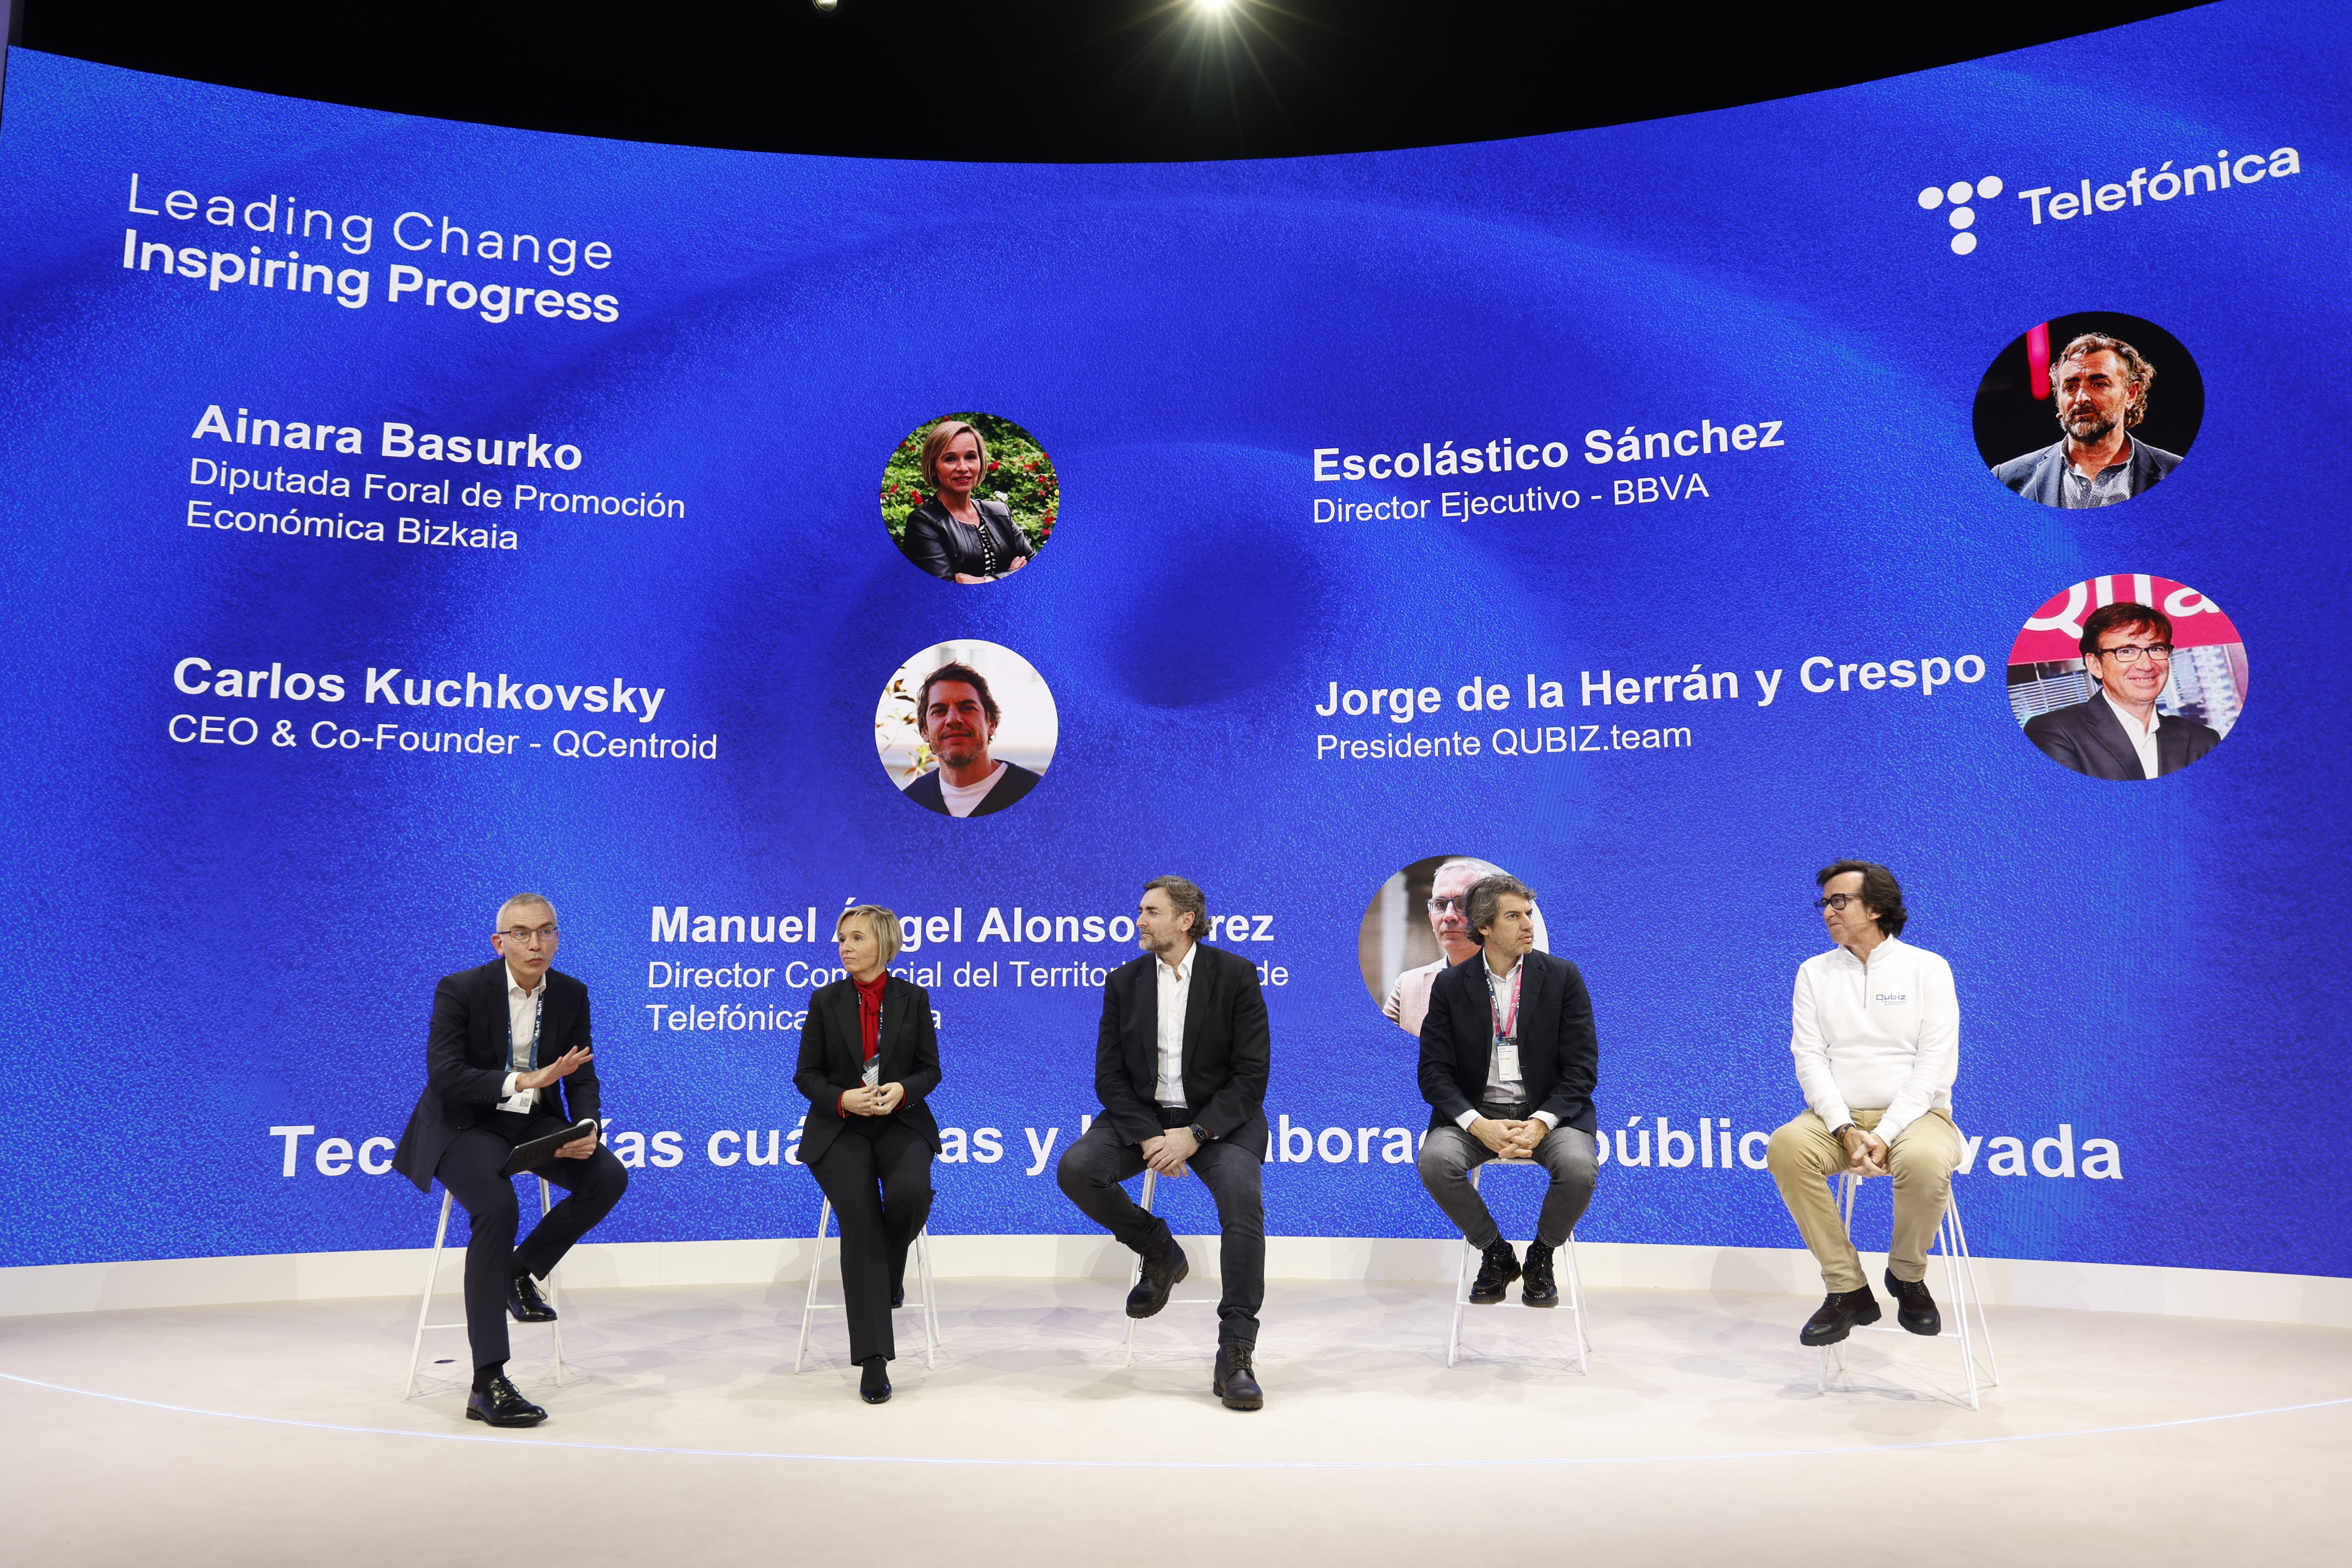
<instances>
[{"instance_id":1,"label":"circular headshot of blonde woman before green foliage on screen","mask_svg":"<svg viewBox=\"0 0 2352 1568\"><path fill-rule=\"evenodd\" d=\"M891 543L943 583L1000 583L1054 538L1061 480L1037 437L995 414L948 414L882 465Z\"/></svg>"}]
</instances>

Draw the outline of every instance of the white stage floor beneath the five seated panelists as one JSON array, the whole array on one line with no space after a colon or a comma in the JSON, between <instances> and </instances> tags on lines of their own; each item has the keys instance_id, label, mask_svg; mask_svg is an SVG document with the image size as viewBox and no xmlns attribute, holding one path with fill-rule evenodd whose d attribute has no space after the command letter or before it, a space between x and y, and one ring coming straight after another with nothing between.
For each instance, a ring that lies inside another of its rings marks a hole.
<instances>
[{"instance_id":1,"label":"white stage floor beneath the five seated panelists","mask_svg":"<svg viewBox=\"0 0 2352 1568\"><path fill-rule=\"evenodd\" d=\"M1997 1307L1969 1410L1952 1338L1858 1333L1816 1392L1818 1298L1595 1291L1578 1375L1564 1312L1472 1307L1446 1368L1444 1286L1275 1281L1268 1406L1232 1413L1211 1307L1122 1368L1120 1286L964 1279L938 1371L903 1312L868 1408L840 1314L793 1375L800 1295L574 1293L564 1387L515 1331L550 1420L513 1434L456 1380L400 1399L414 1298L9 1319L9 1559L2211 1568L2340 1563L2352 1514L2333 1328Z\"/></svg>"}]
</instances>

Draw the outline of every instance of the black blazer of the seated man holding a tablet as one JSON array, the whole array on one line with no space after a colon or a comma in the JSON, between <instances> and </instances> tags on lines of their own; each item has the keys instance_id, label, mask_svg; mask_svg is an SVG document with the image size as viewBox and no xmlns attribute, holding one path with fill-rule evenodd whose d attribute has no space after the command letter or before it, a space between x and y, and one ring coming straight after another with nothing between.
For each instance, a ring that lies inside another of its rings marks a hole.
<instances>
[{"instance_id":1,"label":"black blazer of the seated man holding a tablet","mask_svg":"<svg viewBox=\"0 0 2352 1568\"><path fill-rule=\"evenodd\" d=\"M442 976L433 987L433 1027L426 1032L426 1091L416 1095L409 1112L409 1128L400 1133L393 1150L393 1171L400 1171L419 1192L433 1190L433 1173L440 1157L456 1135L470 1126L489 1121L499 1110L499 1091L513 1072L506 1056L506 959L492 959L480 969L461 969ZM548 997L539 1011L539 1065L546 1067L564 1051L588 1046L588 987L572 976L550 969L546 978ZM564 1117L579 1121L595 1117L600 1105L595 1063L581 1065L569 1077L539 1091L541 1117Z\"/></svg>"}]
</instances>

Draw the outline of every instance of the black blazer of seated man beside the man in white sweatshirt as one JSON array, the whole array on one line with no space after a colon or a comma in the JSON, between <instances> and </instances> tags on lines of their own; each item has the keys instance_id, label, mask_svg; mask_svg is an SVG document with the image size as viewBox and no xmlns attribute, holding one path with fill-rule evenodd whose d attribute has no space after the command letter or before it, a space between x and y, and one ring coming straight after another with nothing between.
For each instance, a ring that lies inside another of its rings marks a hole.
<instances>
[{"instance_id":1,"label":"black blazer of seated man beside the man in white sweatshirt","mask_svg":"<svg viewBox=\"0 0 2352 1568\"><path fill-rule=\"evenodd\" d=\"M1592 1084L1602 1048L1592 1037L1592 997L1576 964L1548 952L1519 959L1519 1077L1536 1110L1562 1126L1592 1131ZM1435 1105L1430 1131L1454 1126L1486 1098L1494 1060L1494 1001L1486 997L1486 957L1437 976L1421 1020L1421 1098Z\"/></svg>"}]
</instances>

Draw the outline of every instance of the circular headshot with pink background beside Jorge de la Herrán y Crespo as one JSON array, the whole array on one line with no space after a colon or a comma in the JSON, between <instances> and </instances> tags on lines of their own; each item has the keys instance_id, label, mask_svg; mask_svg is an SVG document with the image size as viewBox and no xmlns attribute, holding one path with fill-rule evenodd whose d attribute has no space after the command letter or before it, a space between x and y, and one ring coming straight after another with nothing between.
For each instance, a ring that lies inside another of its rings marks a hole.
<instances>
[{"instance_id":1,"label":"circular headshot with pink background beside Jorge de la Herr\u00e1n y Crespo","mask_svg":"<svg viewBox=\"0 0 2352 1568\"><path fill-rule=\"evenodd\" d=\"M2009 649L2009 712L2058 766L2164 778L2246 710L2246 644L2187 583L2098 576L2051 597Z\"/></svg>"}]
</instances>

